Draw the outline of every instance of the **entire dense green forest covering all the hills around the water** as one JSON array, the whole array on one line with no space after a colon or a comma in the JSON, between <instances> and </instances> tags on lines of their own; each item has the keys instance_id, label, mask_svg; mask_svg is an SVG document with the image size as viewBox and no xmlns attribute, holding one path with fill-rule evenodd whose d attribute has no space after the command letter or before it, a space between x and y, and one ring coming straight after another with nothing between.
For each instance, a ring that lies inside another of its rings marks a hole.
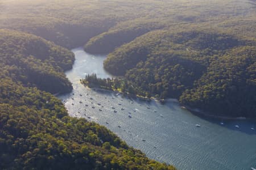
<instances>
[{"instance_id":1,"label":"entire dense green forest covering all the hills around the water","mask_svg":"<svg viewBox=\"0 0 256 170\"><path fill-rule=\"evenodd\" d=\"M255 118L255 8L249 0L0 1L0 169L175 169L68 116L54 95L72 91L69 49L108 54L105 69L121 79L105 87Z\"/></svg>"}]
</instances>

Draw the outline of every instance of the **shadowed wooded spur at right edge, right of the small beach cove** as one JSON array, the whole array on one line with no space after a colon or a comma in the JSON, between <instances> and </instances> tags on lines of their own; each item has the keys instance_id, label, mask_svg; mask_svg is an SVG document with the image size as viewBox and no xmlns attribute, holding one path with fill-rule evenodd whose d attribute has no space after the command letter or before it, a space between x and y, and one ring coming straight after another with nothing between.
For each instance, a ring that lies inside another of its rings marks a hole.
<instances>
[{"instance_id":1,"label":"shadowed wooded spur at right edge, right of the small beach cove","mask_svg":"<svg viewBox=\"0 0 256 170\"><path fill-rule=\"evenodd\" d=\"M255 117L256 46L242 46L212 61L180 101L217 115Z\"/></svg>"}]
</instances>

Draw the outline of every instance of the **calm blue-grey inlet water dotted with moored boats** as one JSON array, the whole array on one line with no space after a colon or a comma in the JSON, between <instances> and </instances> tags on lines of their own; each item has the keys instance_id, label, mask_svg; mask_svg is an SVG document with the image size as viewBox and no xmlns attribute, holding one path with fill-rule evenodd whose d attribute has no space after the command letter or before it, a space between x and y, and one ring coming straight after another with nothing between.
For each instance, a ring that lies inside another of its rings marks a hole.
<instances>
[{"instance_id":1,"label":"calm blue-grey inlet water dotted with moored boats","mask_svg":"<svg viewBox=\"0 0 256 170\"><path fill-rule=\"evenodd\" d=\"M104 125L149 158L178 169L256 168L256 130L250 129L254 126L256 129L254 122L224 121L220 125L220 120L200 118L180 108L174 99L162 105L115 96L115 92L90 90L79 80L91 73L101 78L111 77L103 69L105 56L93 56L82 48L73 49L73 53L76 61L66 74L74 90L59 96L71 116L86 117Z\"/></svg>"}]
</instances>

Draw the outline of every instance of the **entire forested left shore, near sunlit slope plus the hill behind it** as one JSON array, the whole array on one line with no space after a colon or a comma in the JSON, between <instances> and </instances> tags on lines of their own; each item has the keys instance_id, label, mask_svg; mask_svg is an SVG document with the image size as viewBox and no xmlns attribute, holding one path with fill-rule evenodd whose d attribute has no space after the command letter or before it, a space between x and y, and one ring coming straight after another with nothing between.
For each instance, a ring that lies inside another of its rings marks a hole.
<instances>
[{"instance_id":1,"label":"entire forested left shore, near sunlit slope plus the hill behind it","mask_svg":"<svg viewBox=\"0 0 256 170\"><path fill-rule=\"evenodd\" d=\"M69 50L1 29L0 61L0 169L175 169L68 116L52 94L72 90L63 73L74 61Z\"/></svg>"}]
</instances>

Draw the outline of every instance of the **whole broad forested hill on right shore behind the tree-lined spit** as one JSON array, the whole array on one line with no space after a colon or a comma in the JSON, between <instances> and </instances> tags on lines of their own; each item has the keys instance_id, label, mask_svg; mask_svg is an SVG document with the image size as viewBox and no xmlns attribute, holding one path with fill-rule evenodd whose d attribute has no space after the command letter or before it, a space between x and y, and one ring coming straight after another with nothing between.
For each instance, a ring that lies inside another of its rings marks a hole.
<instances>
[{"instance_id":1,"label":"whole broad forested hill on right shore behind the tree-lined spit","mask_svg":"<svg viewBox=\"0 0 256 170\"><path fill-rule=\"evenodd\" d=\"M217 116L255 117L255 45L207 29L152 31L114 50L104 67L125 75L142 96L175 97Z\"/></svg>"}]
</instances>

